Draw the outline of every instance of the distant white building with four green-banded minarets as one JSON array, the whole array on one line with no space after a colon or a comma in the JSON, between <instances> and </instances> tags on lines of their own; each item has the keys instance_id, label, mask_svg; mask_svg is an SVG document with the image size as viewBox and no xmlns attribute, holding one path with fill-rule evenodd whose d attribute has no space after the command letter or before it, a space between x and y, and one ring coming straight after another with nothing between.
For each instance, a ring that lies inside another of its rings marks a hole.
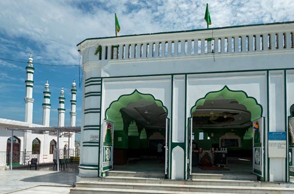
<instances>
[{"instance_id":1,"label":"distant white building with four green-banded minarets","mask_svg":"<svg viewBox=\"0 0 294 194\"><path fill-rule=\"evenodd\" d=\"M33 67L33 58L30 55L28 58L26 69L26 80L25 80L25 121L15 121L9 119L0 118L0 168L10 164L9 153L11 148L11 136L12 131L6 130L6 128L23 128L30 127L31 130L34 127L49 127L50 126L50 89L49 83L45 84L44 103L43 106L43 125L33 123L33 75L35 68ZM71 126L75 126L75 106L76 106L76 84L75 81L72 83L72 99L71 102ZM58 108L58 127L64 126L64 114L65 114L65 97L63 87L59 97L59 108ZM40 104L41 106L41 104ZM69 137L70 134L70 137ZM69 152L68 150L74 151L74 133L63 132L59 136L59 157L67 157L64 154ZM48 163L53 161L53 150L57 147L57 137L55 132L44 133L44 131L14 131L13 132L13 165L25 165L31 158L37 158L39 163ZM62 154L62 155L60 155Z\"/></svg>"}]
</instances>

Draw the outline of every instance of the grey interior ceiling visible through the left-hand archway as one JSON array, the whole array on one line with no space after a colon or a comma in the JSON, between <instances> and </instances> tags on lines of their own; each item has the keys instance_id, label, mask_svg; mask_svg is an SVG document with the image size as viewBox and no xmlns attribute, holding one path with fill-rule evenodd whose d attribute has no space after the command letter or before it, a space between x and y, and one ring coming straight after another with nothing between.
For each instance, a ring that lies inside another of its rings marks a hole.
<instances>
[{"instance_id":1,"label":"grey interior ceiling visible through the left-hand archway","mask_svg":"<svg viewBox=\"0 0 294 194\"><path fill-rule=\"evenodd\" d=\"M154 101L140 99L137 102L128 103L122 110L146 129L165 129L166 112Z\"/></svg>"}]
</instances>

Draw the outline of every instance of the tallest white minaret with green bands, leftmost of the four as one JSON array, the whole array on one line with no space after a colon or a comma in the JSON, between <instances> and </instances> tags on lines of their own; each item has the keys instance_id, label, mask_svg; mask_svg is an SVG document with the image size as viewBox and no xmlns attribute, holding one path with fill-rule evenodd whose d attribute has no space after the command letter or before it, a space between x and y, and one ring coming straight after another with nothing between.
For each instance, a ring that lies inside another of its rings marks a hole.
<instances>
[{"instance_id":1,"label":"tallest white minaret with green bands, leftmost of the four","mask_svg":"<svg viewBox=\"0 0 294 194\"><path fill-rule=\"evenodd\" d=\"M33 68L33 58L30 53L26 69L26 80L25 80L25 122L33 122L33 77L35 68Z\"/></svg>"}]
</instances>

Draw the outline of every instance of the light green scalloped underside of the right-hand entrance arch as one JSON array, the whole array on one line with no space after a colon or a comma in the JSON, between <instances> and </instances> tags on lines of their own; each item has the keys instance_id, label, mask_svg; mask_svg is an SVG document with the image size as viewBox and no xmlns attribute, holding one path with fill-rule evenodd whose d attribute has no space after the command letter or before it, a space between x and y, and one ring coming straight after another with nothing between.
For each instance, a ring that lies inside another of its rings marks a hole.
<instances>
[{"instance_id":1,"label":"light green scalloped underside of the right-hand entrance arch","mask_svg":"<svg viewBox=\"0 0 294 194\"><path fill-rule=\"evenodd\" d=\"M202 106L206 100L213 100L219 97L223 97L225 99L235 99L239 104L243 104L251 113L251 121L262 117L262 106L254 97L248 97L247 94L242 90L230 90L227 86L224 86L220 91L209 92L205 95L205 97L198 99L195 105L191 108L191 115L196 110L196 108L198 106Z\"/></svg>"}]
</instances>

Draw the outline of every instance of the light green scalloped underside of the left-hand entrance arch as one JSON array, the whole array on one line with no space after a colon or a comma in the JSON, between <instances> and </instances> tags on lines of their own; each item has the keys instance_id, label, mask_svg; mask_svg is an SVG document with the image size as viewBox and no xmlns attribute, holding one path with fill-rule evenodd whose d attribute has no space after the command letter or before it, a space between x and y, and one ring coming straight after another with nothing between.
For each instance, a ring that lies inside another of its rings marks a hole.
<instances>
[{"instance_id":1,"label":"light green scalloped underside of the left-hand entrance arch","mask_svg":"<svg viewBox=\"0 0 294 194\"><path fill-rule=\"evenodd\" d=\"M123 107L126 107L130 102L137 102L140 99L145 99L146 101L154 101L157 106L162 107L168 116L168 109L163 105L163 102L159 99L155 99L155 97L151 94L143 94L139 92L137 89L128 95L122 95L118 98L118 100L111 102L109 107L105 111L105 118L107 121L116 121L116 117L120 114L120 110Z\"/></svg>"}]
</instances>

